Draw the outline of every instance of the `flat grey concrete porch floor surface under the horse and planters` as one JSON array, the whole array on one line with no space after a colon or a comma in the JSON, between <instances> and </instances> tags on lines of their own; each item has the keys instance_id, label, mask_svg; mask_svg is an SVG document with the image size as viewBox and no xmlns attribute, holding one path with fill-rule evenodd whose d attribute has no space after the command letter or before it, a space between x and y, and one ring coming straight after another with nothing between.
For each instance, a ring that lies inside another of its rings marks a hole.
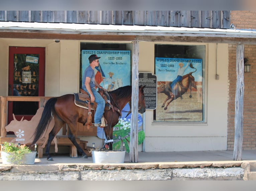
<instances>
[{"instance_id":1,"label":"flat grey concrete porch floor surface under the horse and planters","mask_svg":"<svg viewBox=\"0 0 256 191\"><path fill-rule=\"evenodd\" d=\"M93 163L91 156L71 158L68 155L52 154L53 161L47 161L46 156L36 158L35 164L83 164ZM129 153L125 154L124 163L129 163ZM242 160L256 162L256 150L244 150ZM182 152L138 152L138 163L159 162L196 162L196 161L233 161L233 150L226 151L182 151ZM0 162L2 160L0 159Z\"/></svg>"}]
</instances>

